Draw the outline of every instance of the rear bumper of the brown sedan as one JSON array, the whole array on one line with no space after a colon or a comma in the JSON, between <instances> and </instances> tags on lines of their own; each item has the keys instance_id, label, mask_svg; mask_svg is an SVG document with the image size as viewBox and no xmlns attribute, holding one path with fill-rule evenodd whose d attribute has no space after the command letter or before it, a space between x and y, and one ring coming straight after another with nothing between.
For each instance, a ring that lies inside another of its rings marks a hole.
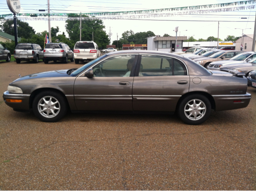
<instances>
[{"instance_id":1,"label":"rear bumper of the brown sedan","mask_svg":"<svg viewBox=\"0 0 256 191\"><path fill-rule=\"evenodd\" d=\"M222 111L247 107L252 97L251 94L246 93L244 95L213 95L213 98L216 106L215 110Z\"/></svg>"}]
</instances>

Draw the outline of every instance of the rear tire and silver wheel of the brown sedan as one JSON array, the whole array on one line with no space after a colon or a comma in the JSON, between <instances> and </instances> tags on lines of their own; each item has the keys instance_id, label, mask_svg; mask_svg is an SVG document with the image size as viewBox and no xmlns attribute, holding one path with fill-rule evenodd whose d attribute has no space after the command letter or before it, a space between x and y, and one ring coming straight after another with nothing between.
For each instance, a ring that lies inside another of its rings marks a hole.
<instances>
[{"instance_id":1,"label":"rear tire and silver wheel of the brown sedan","mask_svg":"<svg viewBox=\"0 0 256 191\"><path fill-rule=\"evenodd\" d=\"M186 96L178 107L178 114L183 122L199 125L205 122L211 113L211 103L203 95Z\"/></svg>"}]
</instances>

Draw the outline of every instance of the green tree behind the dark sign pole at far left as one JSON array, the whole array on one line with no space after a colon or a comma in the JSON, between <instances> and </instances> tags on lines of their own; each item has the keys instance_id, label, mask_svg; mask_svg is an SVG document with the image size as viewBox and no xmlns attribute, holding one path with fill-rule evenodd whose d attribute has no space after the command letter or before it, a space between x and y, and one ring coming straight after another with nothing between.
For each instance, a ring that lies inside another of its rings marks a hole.
<instances>
[{"instance_id":1,"label":"green tree behind the dark sign pole at far left","mask_svg":"<svg viewBox=\"0 0 256 191\"><path fill-rule=\"evenodd\" d=\"M0 24L0 29L2 30L2 32L8 33L14 36L13 20L2 20ZM36 31L31 26L29 26L27 22L23 22L20 20L17 20L17 31L18 31L18 37L26 38L26 39L32 37L32 35L36 33Z\"/></svg>"}]
</instances>

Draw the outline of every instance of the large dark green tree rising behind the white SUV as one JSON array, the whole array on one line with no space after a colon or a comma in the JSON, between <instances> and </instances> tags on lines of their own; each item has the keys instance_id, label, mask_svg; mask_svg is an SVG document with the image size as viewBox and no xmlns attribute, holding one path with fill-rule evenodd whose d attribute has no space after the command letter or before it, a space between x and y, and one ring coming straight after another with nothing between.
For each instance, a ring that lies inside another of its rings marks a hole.
<instances>
[{"instance_id":1,"label":"large dark green tree rising behind the white SUV","mask_svg":"<svg viewBox=\"0 0 256 191\"><path fill-rule=\"evenodd\" d=\"M88 17L82 15L83 17ZM75 17L70 14L70 17ZM69 35L72 43L80 40L80 21L79 20L67 20L65 25L66 31ZM92 32L94 42L97 43L98 47L106 48L106 45L110 43L108 35L103 30L105 26L102 20L82 20L82 33L81 39L83 41L92 41Z\"/></svg>"}]
</instances>

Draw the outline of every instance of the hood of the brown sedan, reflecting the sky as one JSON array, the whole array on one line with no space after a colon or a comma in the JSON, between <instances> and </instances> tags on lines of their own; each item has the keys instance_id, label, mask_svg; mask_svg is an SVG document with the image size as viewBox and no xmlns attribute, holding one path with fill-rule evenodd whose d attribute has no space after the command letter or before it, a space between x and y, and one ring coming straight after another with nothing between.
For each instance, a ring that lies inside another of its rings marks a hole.
<instances>
[{"instance_id":1,"label":"hood of the brown sedan, reflecting the sky","mask_svg":"<svg viewBox=\"0 0 256 191\"><path fill-rule=\"evenodd\" d=\"M67 74L68 70L54 70L54 71L48 71L48 72L40 72L35 74L30 74L26 76L22 76L18 79L16 79L14 82L17 81L23 81L28 79L37 79L37 78L52 78L52 77L70 77L70 75Z\"/></svg>"}]
</instances>

